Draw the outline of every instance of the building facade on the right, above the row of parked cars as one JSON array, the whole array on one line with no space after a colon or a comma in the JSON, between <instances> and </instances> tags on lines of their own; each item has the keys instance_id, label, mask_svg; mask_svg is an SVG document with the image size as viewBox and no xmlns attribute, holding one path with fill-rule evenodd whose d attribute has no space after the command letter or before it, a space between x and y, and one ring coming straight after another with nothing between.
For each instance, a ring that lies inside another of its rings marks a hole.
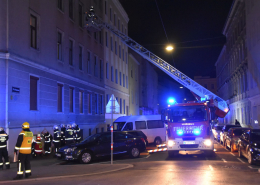
<instances>
[{"instance_id":1,"label":"building facade on the right, above the row of parked cars","mask_svg":"<svg viewBox=\"0 0 260 185\"><path fill-rule=\"evenodd\" d=\"M230 107L220 119L227 124L259 127L259 8L259 1L235 0L223 30L227 42L215 65L218 94Z\"/></svg>"}]
</instances>

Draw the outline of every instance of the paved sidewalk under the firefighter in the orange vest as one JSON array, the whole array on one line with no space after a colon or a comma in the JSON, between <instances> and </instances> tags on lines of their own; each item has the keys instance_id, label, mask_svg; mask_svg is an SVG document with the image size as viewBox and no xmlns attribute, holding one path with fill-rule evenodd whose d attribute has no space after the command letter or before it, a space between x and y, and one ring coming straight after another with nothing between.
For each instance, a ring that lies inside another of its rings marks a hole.
<instances>
[{"instance_id":1,"label":"paved sidewalk under the firefighter in the orange vest","mask_svg":"<svg viewBox=\"0 0 260 185\"><path fill-rule=\"evenodd\" d=\"M46 161L47 162L47 161ZM33 165L32 161L32 176L30 178L24 178L20 181L31 180L44 180L44 179L57 179L77 176L97 175L103 173L109 173L113 171L119 171L127 168L132 168L131 164L72 164L72 165L59 165L58 161L55 164L49 165ZM10 170L0 171L0 184L6 184L8 182L14 182L13 178L16 176L17 168L16 164L11 164Z\"/></svg>"}]
</instances>

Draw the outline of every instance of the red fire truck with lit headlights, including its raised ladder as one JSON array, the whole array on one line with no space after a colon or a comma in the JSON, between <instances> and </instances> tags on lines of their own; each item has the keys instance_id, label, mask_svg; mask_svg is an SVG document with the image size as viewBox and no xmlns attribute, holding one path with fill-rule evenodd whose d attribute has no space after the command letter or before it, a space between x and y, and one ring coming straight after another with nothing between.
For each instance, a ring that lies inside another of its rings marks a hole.
<instances>
[{"instance_id":1,"label":"red fire truck with lit headlights, including its raised ladder","mask_svg":"<svg viewBox=\"0 0 260 185\"><path fill-rule=\"evenodd\" d=\"M167 125L166 145L169 156L179 151L202 150L207 155L214 153L214 138L211 124L217 117L223 118L229 112L228 104L175 67L156 56L116 27L104 22L91 7L85 14L85 27L93 32L107 29L121 38L129 48L163 70L174 80L188 88L197 101L180 103L163 109L162 121Z\"/></svg>"}]
</instances>

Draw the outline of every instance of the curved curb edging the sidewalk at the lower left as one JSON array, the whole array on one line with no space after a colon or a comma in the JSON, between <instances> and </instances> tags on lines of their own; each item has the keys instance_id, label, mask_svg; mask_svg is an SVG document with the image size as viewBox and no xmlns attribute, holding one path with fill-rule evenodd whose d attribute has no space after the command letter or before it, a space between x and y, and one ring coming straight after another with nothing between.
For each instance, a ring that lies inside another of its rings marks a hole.
<instances>
[{"instance_id":1,"label":"curved curb edging the sidewalk at the lower left","mask_svg":"<svg viewBox=\"0 0 260 185\"><path fill-rule=\"evenodd\" d=\"M110 165L110 164L109 164ZM113 164L116 165L116 164ZM73 178L73 177L82 177L82 176L89 176L89 175L99 175L99 174L104 174L104 173L110 173L110 172L115 172L115 171L120 171L120 170L125 170L128 168L133 168L134 165L132 164L125 164L127 166L114 169L114 170L108 170L104 172L96 172L96 173L89 173L89 174L79 174L79 175L66 175L66 176L55 176L55 177L39 177L39 178L29 178L29 179L21 179L21 180L7 180L7 181L0 181L0 184L5 184L5 183L17 183L17 182L28 182L28 181L42 181L42 180L51 180L51 179L60 179L60 178Z\"/></svg>"}]
</instances>

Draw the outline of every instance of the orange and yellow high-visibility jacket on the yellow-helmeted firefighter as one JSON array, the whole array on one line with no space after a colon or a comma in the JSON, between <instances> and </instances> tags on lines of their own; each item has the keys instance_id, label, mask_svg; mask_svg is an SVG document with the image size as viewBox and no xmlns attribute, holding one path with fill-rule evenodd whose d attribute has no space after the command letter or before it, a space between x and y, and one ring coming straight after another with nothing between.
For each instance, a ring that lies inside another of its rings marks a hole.
<instances>
[{"instance_id":1,"label":"orange and yellow high-visibility jacket on the yellow-helmeted firefighter","mask_svg":"<svg viewBox=\"0 0 260 185\"><path fill-rule=\"evenodd\" d=\"M29 129L24 129L20 132L16 145L15 152L19 150L21 154L31 154L32 152L33 133Z\"/></svg>"}]
</instances>

